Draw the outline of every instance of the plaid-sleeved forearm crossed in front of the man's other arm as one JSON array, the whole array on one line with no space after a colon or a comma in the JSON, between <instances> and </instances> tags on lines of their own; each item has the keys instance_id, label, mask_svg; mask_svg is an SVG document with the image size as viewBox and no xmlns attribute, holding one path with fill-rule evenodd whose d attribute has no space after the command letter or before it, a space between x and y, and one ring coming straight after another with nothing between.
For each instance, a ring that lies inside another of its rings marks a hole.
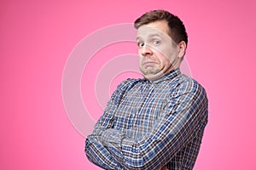
<instances>
[{"instance_id":1,"label":"plaid-sleeved forearm crossed in front of the man's other arm","mask_svg":"<svg viewBox=\"0 0 256 170\"><path fill-rule=\"evenodd\" d=\"M167 124L171 124L166 122ZM189 129L186 129L189 131ZM102 144L110 154L127 169L160 169L187 144L192 135L180 136L174 131L154 131L143 139L130 139L115 129L108 129L102 136ZM184 130L185 131L185 130ZM183 132L184 132L183 131Z\"/></svg>"}]
</instances>

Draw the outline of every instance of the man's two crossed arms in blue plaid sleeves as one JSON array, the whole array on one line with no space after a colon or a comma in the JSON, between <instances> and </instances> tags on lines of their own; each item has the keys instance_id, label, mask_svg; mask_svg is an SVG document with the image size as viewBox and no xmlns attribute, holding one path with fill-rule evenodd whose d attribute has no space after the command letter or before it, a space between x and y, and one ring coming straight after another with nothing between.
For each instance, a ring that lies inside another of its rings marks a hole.
<instances>
[{"instance_id":1,"label":"man's two crossed arms in blue plaid sleeves","mask_svg":"<svg viewBox=\"0 0 256 170\"><path fill-rule=\"evenodd\" d=\"M169 99L163 116L145 136L131 139L113 128L117 94L108 103L94 132L86 139L90 161L105 169L160 169L191 141L203 126L207 97L201 86L188 86Z\"/></svg>"}]
</instances>

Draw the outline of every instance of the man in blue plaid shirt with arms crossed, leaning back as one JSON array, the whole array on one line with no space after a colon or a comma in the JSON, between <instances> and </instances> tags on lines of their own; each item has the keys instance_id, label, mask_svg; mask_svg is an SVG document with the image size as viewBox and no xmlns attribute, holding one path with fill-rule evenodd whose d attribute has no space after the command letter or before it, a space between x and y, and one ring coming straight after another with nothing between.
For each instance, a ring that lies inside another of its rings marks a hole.
<instances>
[{"instance_id":1,"label":"man in blue plaid shirt with arms crossed, leaning back","mask_svg":"<svg viewBox=\"0 0 256 170\"><path fill-rule=\"evenodd\" d=\"M85 142L105 169L192 169L207 125L207 94L181 74L188 37L164 10L135 21L143 79L121 82Z\"/></svg>"}]
</instances>

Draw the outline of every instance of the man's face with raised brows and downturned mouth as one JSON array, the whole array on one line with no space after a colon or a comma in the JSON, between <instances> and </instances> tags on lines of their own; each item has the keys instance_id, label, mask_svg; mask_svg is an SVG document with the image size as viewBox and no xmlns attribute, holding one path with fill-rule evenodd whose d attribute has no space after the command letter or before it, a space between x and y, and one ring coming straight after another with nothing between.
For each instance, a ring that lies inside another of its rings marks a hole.
<instances>
[{"instance_id":1,"label":"man's face with raised brows and downturned mouth","mask_svg":"<svg viewBox=\"0 0 256 170\"><path fill-rule=\"evenodd\" d=\"M165 20L155 21L137 29L139 66L143 76L154 81L179 68L185 43L177 44L168 35Z\"/></svg>"}]
</instances>

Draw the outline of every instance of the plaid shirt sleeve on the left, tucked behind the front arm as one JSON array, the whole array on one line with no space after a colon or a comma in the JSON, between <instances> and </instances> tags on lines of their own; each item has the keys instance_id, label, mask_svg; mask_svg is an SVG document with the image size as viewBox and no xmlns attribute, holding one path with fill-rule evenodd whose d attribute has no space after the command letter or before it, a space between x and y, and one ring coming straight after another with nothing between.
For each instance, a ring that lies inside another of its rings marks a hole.
<instances>
[{"instance_id":1,"label":"plaid shirt sleeve on the left, tucked behind the front arm","mask_svg":"<svg viewBox=\"0 0 256 170\"><path fill-rule=\"evenodd\" d=\"M114 113L118 108L125 91L131 87L131 79L119 84L108 101L106 110L101 118L96 122L93 133L87 136L85 140L85 154L89 161L104 169L124 169L115 160L108 148L102 144L99 137L109 128L113 128Z\"/></svg>"}]
</instances>

